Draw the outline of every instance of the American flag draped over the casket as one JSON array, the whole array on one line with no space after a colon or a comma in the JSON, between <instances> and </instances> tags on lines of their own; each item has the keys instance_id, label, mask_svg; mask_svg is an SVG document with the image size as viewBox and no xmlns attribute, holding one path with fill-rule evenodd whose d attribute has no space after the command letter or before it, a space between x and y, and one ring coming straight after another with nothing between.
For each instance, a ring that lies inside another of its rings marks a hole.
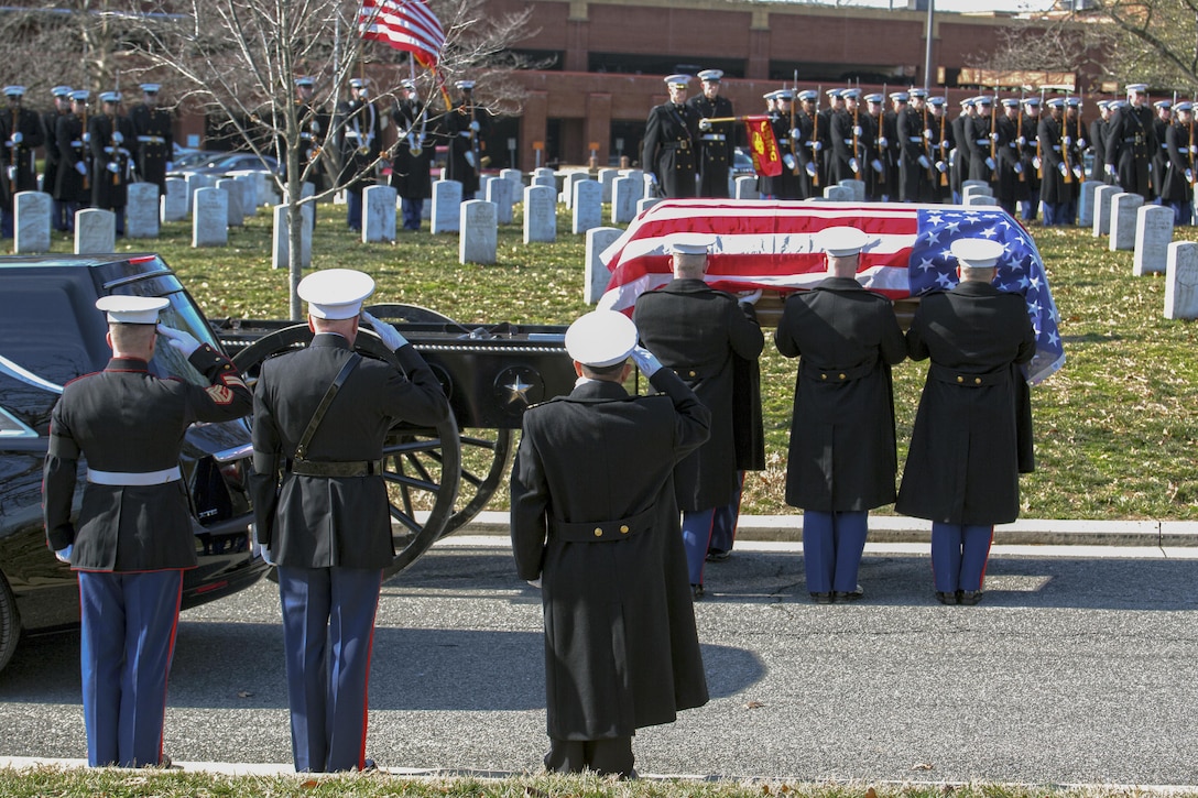
<instances>
[{"instance_id":1,"label":"American flag draped over the casket","mask_svg":"<svg viewBox=\"0 0 1198 798\"><path fill-rule=\"evenodd\" d=\"M600 308L631 312L636 297L672 279L668 237L715 236L707 282L725 291L812 288L827 276L815 236L824 228L854 226L873 242L861 253L857 279L893 300L956 285L956 238L985 237L1006 249L997 285L1021 294L1036 333L1028 376L1040 382L1065 363L1057 331L1060 315L1048 291L1043 260L1018 222L997 207L795 202L761 200L664 200L639 216L600 255L611 272Z\"/></svg>"}]
</instances>

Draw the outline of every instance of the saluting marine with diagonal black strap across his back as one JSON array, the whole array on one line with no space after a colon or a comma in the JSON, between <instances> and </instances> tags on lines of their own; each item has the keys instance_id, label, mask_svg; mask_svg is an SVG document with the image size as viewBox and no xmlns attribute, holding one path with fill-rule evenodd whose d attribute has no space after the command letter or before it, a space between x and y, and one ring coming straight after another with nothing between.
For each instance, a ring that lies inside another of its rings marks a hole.
<instances>
[{"instance_id":1,"label":"saluting marine with diagonal black strap across his back","mask_svg":"<svg viewBox=\"0 0 1198 798\"><path fill-rule=\"evenodd\" d=\"M394 364L353 352L362 301L373 291L374 280L352 270L305 277L298 294L315 337L264 363L254 392L255 530L278 567L300 772L368 767L375 611L395 556L383 442L399 421L431 427L449 413L432 370L391 325L361 316Z\"/></svg>"}]
</instances>

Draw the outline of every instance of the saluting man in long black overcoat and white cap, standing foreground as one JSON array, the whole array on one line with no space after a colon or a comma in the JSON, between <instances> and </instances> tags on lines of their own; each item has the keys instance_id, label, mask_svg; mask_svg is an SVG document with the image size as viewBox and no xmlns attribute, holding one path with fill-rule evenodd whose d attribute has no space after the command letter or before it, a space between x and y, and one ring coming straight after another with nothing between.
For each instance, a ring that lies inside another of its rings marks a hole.
<instances>
[{"instance_id":1,"label":"saluting man in long black overcoat and white cap, standing foreground","mask_svg":"<svg viewBox=\"0 0 1198 798\"><path fill-rule=\"evenodd\" d=\"M512 550L545 615L545 767L633 774L637 729L707 703L672 474L710 412L623 314L589 313L565 346L580 376L530 407L512 468ZM659 392L630 397L633 353Z\"/></svg>"}]
</instances>

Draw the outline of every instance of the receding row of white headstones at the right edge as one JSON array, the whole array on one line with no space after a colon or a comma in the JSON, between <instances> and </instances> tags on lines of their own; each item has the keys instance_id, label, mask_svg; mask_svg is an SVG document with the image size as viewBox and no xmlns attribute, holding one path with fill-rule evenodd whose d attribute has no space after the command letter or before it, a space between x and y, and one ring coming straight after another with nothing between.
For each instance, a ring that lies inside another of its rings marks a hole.
<instances>
[{"instance_id":1,"label":"receding row of white headstones at the right edge","mask_svg":"<svg viewBox=\"0 0 1198 798\"><path fill-rule=\"evenodd\" d=\"M1095 238L1109 236L1111 252L1133 250L1133 276L1164 274L1166 319L1198 319L1198 242L1173 240L1173 208L1088 180L1078 211L1078 224Z\"/></svg>"}]
</instances>

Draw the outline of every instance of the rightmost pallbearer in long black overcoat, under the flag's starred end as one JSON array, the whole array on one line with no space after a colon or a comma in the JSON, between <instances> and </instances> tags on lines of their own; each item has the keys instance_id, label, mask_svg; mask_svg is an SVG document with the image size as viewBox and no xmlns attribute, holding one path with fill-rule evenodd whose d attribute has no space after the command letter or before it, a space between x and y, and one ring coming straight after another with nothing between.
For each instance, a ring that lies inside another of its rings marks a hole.
<instances>
[{"instance_id":1,"label":"rightmost pallbearer in long black overcoat, under the flag's starred end","mask_svg":"<svg viewBox=\"0 0 1198 798\"><path fill-rule=\"evenodd\" d=\"M1019 368L1035 333L1018 294L992 285L1003 244L951 244L961 283L922 297L907 355L931 358L895 509L932 521L937 599L976 604L996 524L1019 515L1019 473L1033 470L1031 404Z\"/></svg>"}]
</instances>

